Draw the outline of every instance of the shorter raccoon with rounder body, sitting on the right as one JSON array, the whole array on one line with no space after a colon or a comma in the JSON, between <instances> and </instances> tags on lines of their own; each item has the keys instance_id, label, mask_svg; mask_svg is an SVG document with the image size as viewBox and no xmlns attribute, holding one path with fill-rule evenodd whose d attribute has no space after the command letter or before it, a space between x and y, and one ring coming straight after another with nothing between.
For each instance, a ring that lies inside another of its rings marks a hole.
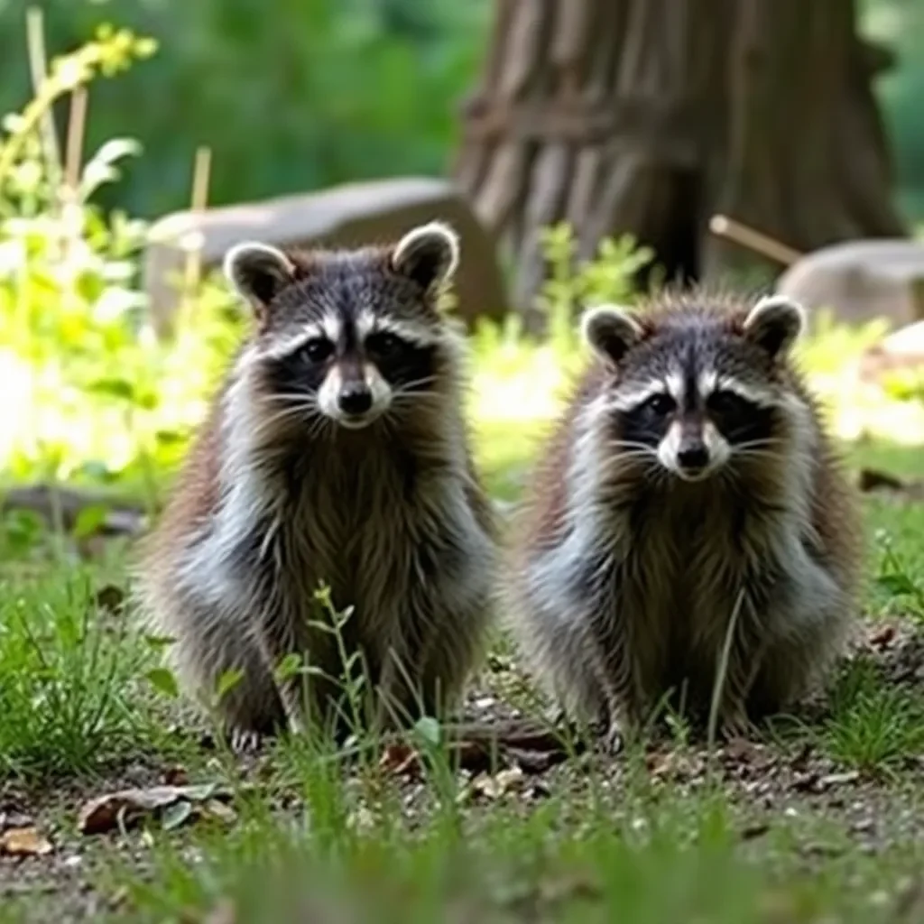
<instances>
[{"instance_id":1,"label":"shorter raccoon with rounder body, sitting on the right","mask_svg":"<svg viewBox=\"0 0 924 924\"><path fill-rule=\"evenodd\" d=\"M517 514L505 592L533 669L614 750L665 698L702 717L721 688L725 736L792 704L849 635L862 558L791 357L802 308L687 289L647 309L582 317L594 359Z\"/></svg>"}]
</instances>

